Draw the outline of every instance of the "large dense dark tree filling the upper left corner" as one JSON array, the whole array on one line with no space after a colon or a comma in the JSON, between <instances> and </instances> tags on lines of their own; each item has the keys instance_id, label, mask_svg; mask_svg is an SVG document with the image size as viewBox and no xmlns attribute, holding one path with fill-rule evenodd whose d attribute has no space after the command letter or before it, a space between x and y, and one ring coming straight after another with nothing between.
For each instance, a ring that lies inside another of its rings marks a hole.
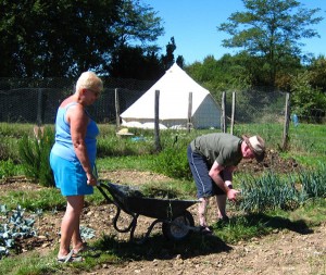
<instances>
[{"instance_id":1,"label":"large dense dark tree filling the upper left corner","mask_svg":"<svg viewBox=\"0 0 326 275\"><path fill-rule=\"evenodd\" d=\"M0 1L0 76L76 76L100 70L114 45L118 0Z\"/></svg>"}]
</instances>

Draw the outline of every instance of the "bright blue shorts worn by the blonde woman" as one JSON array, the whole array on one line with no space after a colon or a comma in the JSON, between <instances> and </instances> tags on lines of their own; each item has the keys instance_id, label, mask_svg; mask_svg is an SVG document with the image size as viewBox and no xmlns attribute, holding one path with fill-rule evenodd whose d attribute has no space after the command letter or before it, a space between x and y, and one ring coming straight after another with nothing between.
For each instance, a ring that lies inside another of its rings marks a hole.
<instances>
[{"instance_id":1,"label":"bright blue shorts worn by the blonde woman","mask_svg":"<svg viewBox=\"0 0 326 275\"><path fill-rule=\"evenodd\" d=\"M87 185L86 173L79 161L67 161L51 153L50 165L54 174L55 186L63 196L93 193L93 187Z\"/></svg>"}]
</instances>

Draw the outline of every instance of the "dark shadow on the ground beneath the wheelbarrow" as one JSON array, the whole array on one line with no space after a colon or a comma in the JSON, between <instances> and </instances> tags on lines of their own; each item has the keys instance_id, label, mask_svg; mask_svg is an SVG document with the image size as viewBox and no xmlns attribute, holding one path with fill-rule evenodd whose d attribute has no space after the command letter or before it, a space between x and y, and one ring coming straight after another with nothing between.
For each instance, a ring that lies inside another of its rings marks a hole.
<instances>
[{"instance_id":1,"label":"dark shadow on the ground beneath the wheelbarrow","mask_svg":"<svg viewBox=\"0 0 326 275\"><path fill-rule=\"evenodd\" d=\"M137 239L135 239L137 241ZM118 240L115 236L103 236L96 243L103 253L115 254L121 260L171 260L190 259L198 255L228 252L231 250L222 239L214 235L192 233L181 241L172 241L156 234L150 236L142 245L134 241Z\"/></svg>"}]
</instances>

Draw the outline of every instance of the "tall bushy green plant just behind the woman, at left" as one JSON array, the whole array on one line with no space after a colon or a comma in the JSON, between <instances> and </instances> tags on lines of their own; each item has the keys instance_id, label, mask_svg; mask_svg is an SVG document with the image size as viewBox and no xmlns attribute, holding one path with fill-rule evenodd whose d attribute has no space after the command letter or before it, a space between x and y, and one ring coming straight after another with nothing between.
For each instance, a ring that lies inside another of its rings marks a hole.
<instances>
[{"instance_id":1,"label":"tall bushy green plant just behind the woman, at left","mask_svg":"<svg viewBox=\"0 0 326 275\"><path fill-rule=\"evenodd\" d=\"M32 177L41 186L54 186L54 177L50 167L49 157L54 134L51 128L43 128L38 137L24 135L18 143L20 158L27 177Z\"/></svg>"}]
</instances>

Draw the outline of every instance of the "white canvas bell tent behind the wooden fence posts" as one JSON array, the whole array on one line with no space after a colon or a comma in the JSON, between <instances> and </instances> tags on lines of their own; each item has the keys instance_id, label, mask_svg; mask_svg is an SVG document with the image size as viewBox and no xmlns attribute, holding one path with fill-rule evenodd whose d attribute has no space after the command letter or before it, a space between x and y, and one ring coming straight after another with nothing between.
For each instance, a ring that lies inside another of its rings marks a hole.
<instances>
[{"instance_id":1,"label":"white canvas bell tent behind the wooden fence posts","mask_svg":"<svg viewBox=\"0 0 326 275\"><path fill-rule=\"evenodd\" d=\"M187 127L189 93L192 93L191 123L193 128L217 128L221 109L209 90L197 84L176 63L134 104L121 114L122 125L153 123L155 90L160 90L159 122L167 128Z\"/></svg>"}]
</instances>

